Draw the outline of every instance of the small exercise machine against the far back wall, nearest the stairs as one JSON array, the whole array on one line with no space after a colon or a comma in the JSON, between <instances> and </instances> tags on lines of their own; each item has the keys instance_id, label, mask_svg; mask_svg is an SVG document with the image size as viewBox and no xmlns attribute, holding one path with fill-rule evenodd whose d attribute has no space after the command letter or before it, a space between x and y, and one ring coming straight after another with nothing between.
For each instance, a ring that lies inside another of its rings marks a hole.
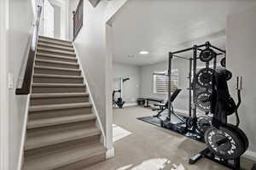
<instances>
[{"instance_id":1,"label":"small exercise machine against the far back wall, nearest the stairs","mask_svg":"<svg viewBox=\"0 0 256 170\"><path fill-rule=\"evenodd\" d=\"M119 109L123 108L123 105L125 105L125 101L123 101L123 83L130 80L130 78L120 78L120 89L119 90L113 90L112 94L112 105L113 108L119 107ZM119 93L119 98L115 99L114 96L116 93Z\"/></svg>"}]
</instances>

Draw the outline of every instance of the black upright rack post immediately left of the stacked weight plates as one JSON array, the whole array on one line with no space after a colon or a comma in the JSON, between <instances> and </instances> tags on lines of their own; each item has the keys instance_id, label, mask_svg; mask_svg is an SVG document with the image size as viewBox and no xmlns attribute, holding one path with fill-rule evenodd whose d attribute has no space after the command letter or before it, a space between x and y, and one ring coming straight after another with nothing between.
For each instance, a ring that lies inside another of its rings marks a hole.
<instances>
[{"instance_id":1,"label":"black upright rack post immediately left of the stacked weight plates","mask_svg":"<svg viewBox=\"0 0 256 170\"><path fill-rule=\"evenodd\" d=\"M196 117L196 106L195 106L195 100L196 100L196 94L195 94L195 77L196 77L196 59L197 59L197 46L195 45L193 47L193 118Z\"/></svg>"}]
</instances>

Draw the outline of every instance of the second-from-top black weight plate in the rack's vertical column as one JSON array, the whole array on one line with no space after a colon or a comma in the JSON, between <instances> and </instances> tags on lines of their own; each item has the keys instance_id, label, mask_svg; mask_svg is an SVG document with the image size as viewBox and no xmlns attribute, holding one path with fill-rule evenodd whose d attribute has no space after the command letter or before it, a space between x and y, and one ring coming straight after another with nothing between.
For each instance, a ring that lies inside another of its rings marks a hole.
<instances>
[{"instance_id":1,"label":"second-from-top black weight plate in the rack's vertical column","mask_svg":"<svg viewBox=\"0 0 256 170\"><path fill-rule=\"evenodd\" d=\"M212 88L212 75L214 73L213 69L203 68L197 72L195 81L202 88Z\"/></svg>"}]
</instances>

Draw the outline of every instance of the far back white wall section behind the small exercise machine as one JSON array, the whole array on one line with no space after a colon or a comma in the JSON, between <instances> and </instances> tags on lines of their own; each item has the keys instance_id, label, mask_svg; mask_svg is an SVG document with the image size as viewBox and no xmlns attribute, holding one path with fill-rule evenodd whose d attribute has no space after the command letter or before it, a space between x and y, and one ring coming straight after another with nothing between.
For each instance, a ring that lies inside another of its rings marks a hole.
<instances>
[{"instance_id":1,"label":"far back white wall section behind the small exercise machine","mask_svg":"<svg viewBox=\"0 0 256 170\"><path fill-rule=\"evenodd\" d=\"M123 99L125 104L134 104L140 97L140 68L135 65L113 63L113 89L120 89L120 77L129 77L123 83ZM119 97L119 94L116 94Z\"/></svg>"}]
</instances>

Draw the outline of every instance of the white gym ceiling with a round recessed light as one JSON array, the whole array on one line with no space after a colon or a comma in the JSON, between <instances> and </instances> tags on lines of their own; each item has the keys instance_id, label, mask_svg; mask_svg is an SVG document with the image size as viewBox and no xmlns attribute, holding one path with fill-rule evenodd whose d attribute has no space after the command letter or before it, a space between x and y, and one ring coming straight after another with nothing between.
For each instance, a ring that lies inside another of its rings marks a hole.
<instances>
[{"instance_id":1,"label":"white gym ceiling with a round recessed light","mask_svg":"<svg viewBox=\"0 0 256 170\"><path fill-rule=\"evenodd\" d=\"M253 3L256 1L128 0L111 20L113 61L150 65L166 60L170 51L206 41L225 48L228 14ZM149 54L139 54L142 50Z\"/></svg>"}]
</instances>

